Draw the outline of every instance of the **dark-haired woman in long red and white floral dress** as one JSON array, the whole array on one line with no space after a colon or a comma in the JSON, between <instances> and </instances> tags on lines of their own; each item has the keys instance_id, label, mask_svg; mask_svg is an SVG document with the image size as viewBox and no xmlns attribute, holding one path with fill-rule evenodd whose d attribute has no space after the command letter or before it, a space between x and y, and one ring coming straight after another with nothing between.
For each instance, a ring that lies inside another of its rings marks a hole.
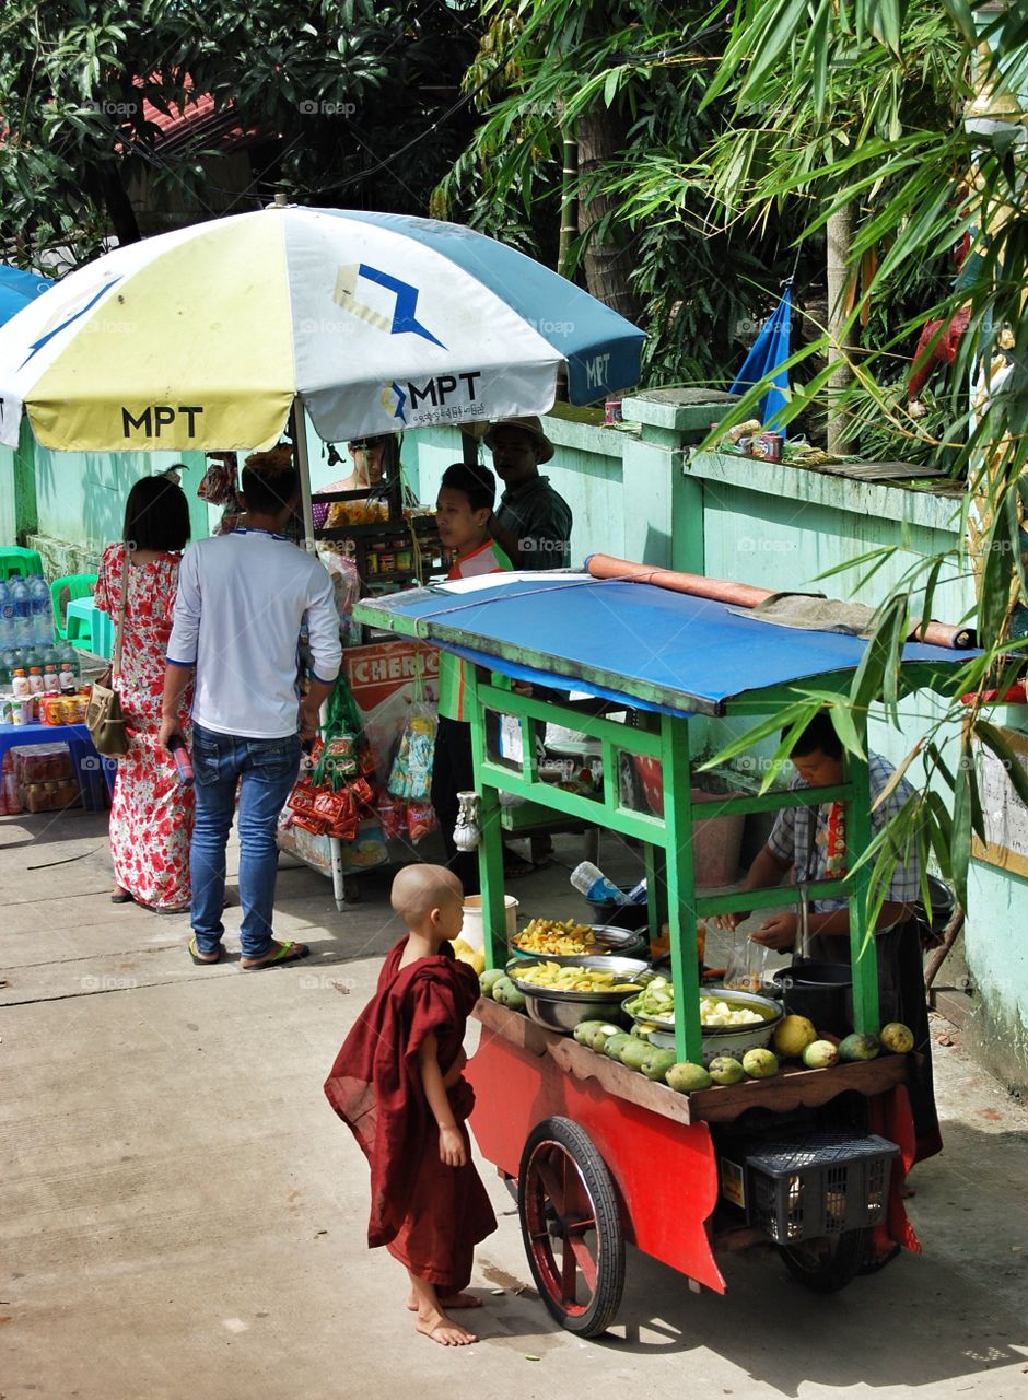
<instances>
[{"instance_id":1,"label":"dark-haired woman in long red and white floral dress","mask_svg":"<svg viewBox=\"0 0 1028 1400\"><path fill-rule=\"evenodd\" d=\"M189 503L174 482L147 476L125 504L125 542L108 545L94 602L118 619L126 554L122 669L113 685L126 718L129 752L118 760L111 804L111 855L116 904L134 900L160 914L189 909L189 840L193 790L182 787L175 764L157 743L164 693L164 655L178 587L178 564L189 539ZM182 727L189 739L189 703Z\"/></svg>"}]
</instances>

